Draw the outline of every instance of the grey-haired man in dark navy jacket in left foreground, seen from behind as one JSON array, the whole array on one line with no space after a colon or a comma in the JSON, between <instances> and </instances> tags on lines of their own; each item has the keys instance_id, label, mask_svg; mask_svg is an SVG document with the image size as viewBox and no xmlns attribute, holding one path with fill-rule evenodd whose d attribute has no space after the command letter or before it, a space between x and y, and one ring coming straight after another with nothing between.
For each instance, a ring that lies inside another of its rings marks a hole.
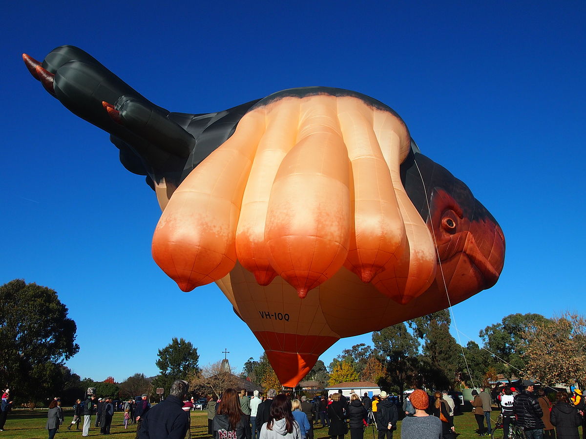
<instances>
[{"instance_id":1,"label":"grey-haired man in dark navy jacket in left foreground, seen from behind","mask_svg":"<svg viewBox=\"0 0 586 439\"><path fill-rule=\"evenodd\" d=\"M189 411L182 408L188 392L188 382L182 379L173 382L169 396L142 419L139 439L183 439L189 426Z\"/></svg>"}]
</instances>

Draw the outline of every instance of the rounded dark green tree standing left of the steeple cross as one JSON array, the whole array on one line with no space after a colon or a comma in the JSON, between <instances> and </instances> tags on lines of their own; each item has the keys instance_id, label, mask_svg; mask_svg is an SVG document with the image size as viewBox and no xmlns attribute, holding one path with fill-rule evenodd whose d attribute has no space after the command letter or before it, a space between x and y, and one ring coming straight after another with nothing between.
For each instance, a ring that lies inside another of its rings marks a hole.
<instances>
[{"instance_id":1,"label":"rounded dark green tree standing left of the steeple cross","mask_svg":"<svg viewBox=\"0 0 586 439\"><path fill-rule=\"evenodd\" d=\"M194 348L191 342L185 341L183 338L173 337L171 343L163 349L159 349L158 357L155 364L161 374L153 379L152 385L165 389L163 395L168 395L173 381L186 380L199 373L197 348Z\"/></svg>"}]
</instances>

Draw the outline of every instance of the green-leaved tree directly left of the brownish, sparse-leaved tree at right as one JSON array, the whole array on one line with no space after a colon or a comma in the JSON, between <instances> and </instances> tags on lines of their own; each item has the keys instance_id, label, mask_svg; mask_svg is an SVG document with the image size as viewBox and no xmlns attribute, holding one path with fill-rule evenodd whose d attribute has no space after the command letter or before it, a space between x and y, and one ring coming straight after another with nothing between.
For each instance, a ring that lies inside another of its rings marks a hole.
<instances>
[{"instance_id":1,"label":"green-leaved tree directly left of the brownish, sparse-leaved tree at right","mask_svg":"<svg viewBox=\"0 0 586 439\"><path fill-rule=\"evenodd\" d=\"M498 372L510 379L525 369L524 334L547 320L541 314L510 314L479 332L484 347L498 357L493 361Z\"/></svg>"}]
</instances>

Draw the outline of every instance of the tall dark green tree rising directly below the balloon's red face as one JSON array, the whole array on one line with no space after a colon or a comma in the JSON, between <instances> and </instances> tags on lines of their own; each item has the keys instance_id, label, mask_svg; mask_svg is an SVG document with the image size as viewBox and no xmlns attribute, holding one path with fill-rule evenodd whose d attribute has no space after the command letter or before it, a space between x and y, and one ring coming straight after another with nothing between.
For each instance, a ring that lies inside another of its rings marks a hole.
<instances>
[{"instance_id":1,"label":"tall dark green tree rising directly below the balloon's red face","mask_svg":"<svg viewBox=\"0 0 586 439\"><path fill-rule=\"evenodd\" d=\"M449 333L451 318L448 310L437 311L410 321L414 334L425 340L422 372L425 382L435 389L454 387L458 379L461 347Z\"/></svg>"}]
</instances>

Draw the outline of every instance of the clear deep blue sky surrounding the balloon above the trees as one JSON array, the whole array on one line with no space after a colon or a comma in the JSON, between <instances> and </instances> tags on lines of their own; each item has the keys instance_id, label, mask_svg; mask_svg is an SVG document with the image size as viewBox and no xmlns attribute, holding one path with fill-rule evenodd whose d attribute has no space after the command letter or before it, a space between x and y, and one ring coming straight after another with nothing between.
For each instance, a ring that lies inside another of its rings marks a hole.
<instances>
[{"instance_id":1,"label":"clear deep blue sky surrounding the balloon above the trees","mask_svg":"<svg viewBox=\"0 0 586 439\"><path fill-rule=\"evenodd\" d=\"M390 105L505 232L502 276L454 307L459 329L476 339L510 313L586 313L584 1L25 1L2 12L0 283L59 293L81 347L67 365L82 378L155 375L172 337L192 341L200 365L227 348L238 370L262 348L214 284L183 293L155 265L154 193L107 133L29 75L21 53L42 60L62 44L171 111L306 85ZM370 340L341 339L321 358Z\"/></svg>"}]
</instances>

